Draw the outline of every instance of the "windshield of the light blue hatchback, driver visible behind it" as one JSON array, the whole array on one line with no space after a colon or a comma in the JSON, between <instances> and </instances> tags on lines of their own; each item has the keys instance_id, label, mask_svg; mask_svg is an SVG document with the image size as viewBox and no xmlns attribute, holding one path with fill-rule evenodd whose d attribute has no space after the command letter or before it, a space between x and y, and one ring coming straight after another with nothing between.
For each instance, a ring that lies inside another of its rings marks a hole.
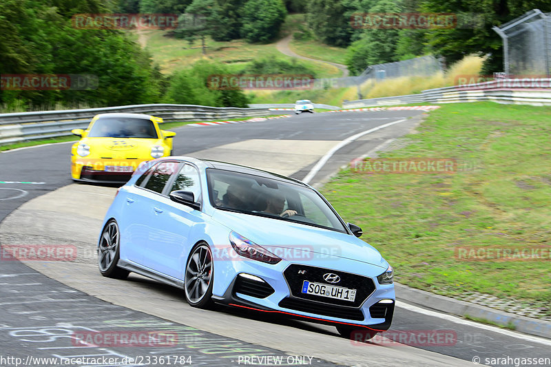
<instances>
[{"instance_id":1,"label":"windshield of the light blue hatchback, driver visible behind it","mask_svg":"<svg viewBox=\"0 0 551 367\"><path fill-rule=\"evenodd\" d=\"M333 209L308 187L221 169L207 169L207 181L211 205L218 209L346 233Z\"/></svg>"}]
</instances>

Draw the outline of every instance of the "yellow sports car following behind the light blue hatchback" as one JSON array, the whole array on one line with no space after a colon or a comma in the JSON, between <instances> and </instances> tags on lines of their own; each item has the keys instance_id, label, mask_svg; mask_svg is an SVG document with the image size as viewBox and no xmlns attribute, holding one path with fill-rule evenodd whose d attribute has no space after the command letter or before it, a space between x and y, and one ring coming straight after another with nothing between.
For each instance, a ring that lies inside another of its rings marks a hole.
<instances>
[{"instance_id":1,"label":"yellow sports car following behind the light blue hatchback","mask_svg":"<svg viewBox=\"0 0 551 367\"><path fill-rule=\"evenodd\" d=\"M98 114L71 148L73 180L126 182L145 160L170 156L175 132L159 129L163 118L145 114Z\"/></svg>"}]
</instances>

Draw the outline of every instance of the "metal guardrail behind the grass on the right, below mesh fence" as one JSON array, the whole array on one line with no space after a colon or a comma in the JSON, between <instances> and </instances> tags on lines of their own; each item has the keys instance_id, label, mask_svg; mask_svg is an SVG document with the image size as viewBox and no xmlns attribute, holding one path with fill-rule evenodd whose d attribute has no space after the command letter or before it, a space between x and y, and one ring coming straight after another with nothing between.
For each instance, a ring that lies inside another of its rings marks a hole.
<instances>
[{"instance_id":1,"label":"metal guardrail behind the grass on the right, below mesh fence","mask_svg":"<svg viewBox=\"0 0 551 367\"><path fill-rule=\"evenodd\" d=\"M510 78L484 83L424 90L420 94L346 101L343 108L493 101L518 105L551 105L551 78Z\"/></svg>"}]
</instances>

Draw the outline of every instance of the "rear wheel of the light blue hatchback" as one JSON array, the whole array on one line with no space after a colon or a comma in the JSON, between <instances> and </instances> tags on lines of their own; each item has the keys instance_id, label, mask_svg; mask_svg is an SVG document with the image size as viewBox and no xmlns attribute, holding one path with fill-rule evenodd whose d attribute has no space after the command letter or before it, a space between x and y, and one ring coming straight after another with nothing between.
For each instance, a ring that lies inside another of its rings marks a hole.
<instances>
[{"instance_id":1,"label":"rear wheel of the light blue hatchback","mask_svg":"<svg viewBox=\"0 0 551 367\"><path fill-rule=\"evenodd\" d=\"M121 250L121 232L116 220L112 219L105 224L101 232L98 246L98 267L104 277L125 279L129 271L116 266Z\"/></svg>"}]
</instances>

